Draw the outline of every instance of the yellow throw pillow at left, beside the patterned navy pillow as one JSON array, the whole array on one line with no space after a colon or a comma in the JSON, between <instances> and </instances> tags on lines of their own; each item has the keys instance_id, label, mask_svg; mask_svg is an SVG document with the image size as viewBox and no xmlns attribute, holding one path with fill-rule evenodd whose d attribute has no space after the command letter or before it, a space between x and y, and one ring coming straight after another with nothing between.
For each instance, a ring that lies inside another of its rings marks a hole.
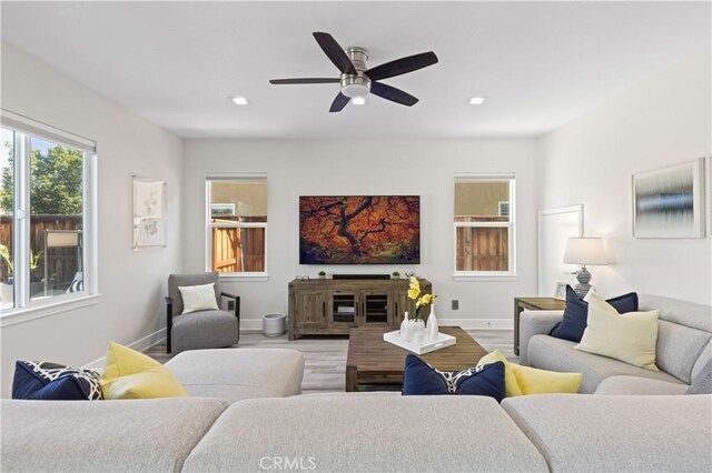
<instances>
[{"instance_id":1,"label":"yellow throw pillow at left, beside the patterned navy pillow","mask_svg":"<svg viewBox=\"0 0 712 473\"><path fill-rule=\"evenodd\" d=\"M103 374L103 399L181 397L188 393L170 371L156 360L109 342Z\"/></svg>"}]
</instances>

